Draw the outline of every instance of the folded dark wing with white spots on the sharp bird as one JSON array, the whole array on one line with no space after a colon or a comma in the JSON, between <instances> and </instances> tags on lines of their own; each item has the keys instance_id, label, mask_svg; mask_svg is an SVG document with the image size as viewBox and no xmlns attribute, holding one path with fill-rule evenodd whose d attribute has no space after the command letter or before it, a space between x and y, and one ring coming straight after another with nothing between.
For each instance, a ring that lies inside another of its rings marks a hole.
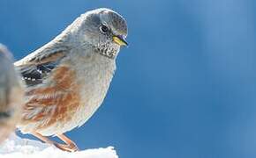
<instances>
[{"instance_id":1,"label":"folded dark wing with white spots on the sharp bird","mask_svg":"<svg viewBox=\"0 0 256 158\"><path fill-rule=\"evenodd\" d=\"M42 80L57 67L68 52L68 47L46 45L14 63L27 86L42 83Z\"/></svg>"}]
</instances>

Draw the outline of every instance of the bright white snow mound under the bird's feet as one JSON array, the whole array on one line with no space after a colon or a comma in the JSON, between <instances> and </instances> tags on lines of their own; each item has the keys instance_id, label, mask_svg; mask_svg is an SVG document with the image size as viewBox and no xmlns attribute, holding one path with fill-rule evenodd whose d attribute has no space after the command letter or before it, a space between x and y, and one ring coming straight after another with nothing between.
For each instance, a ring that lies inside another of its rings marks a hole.
<instances>
[{"instance_id":1,"label":"bright white snow mound under the bird's feet","mask_svg":"<svg viewBox=\"0 0 256 158\"><path fill-rule=\"evenodd\" d=\"M12 134L0 145L0 158L118 158L114 147L68 153L37 140L21 139Z\"/></svg>"}]
</instances>

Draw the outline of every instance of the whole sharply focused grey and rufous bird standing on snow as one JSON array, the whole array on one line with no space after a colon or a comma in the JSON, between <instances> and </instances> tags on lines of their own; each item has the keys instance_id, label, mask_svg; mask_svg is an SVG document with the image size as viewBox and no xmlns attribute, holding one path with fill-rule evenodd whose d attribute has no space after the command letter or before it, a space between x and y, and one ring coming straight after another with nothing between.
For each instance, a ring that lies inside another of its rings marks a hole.
<instances>
[{"instance_id":1,"label":"whole sharply focused grey and rufous bird standing on snow","mask_svg":"<svg viewBox=\"0 0 256 158\"><path fill-rule=\"evenodd\" d=\"M128 46L127 33L126 20L119 13L94 9L81 14L49 43L16 61L14 65L26 82L18 125L21 133L33 134L64 151L78 151L64 133L85 124L102 104L120 48Z\"/></svg>"}]
</instances>

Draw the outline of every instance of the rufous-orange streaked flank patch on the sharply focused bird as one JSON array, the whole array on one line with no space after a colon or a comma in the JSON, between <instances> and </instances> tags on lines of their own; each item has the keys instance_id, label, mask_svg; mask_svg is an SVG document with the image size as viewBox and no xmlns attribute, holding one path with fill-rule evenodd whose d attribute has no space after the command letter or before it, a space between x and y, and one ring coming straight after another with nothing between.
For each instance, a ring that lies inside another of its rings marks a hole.
<instances>
[{"instance_id":1,"label":"rufous-orange streaked flank patch on the sharply focused bird","mask_svg":"<svg viewBox=\"0 0 256 158\"><path fill-rule=\"evenodd\" d=\"M53 86L26 92L26 95L31 98L25 105L24 110L27 112L25 112L26 115L23 115L24 123L45 120L43 124L38 126L38 129L42 129L56 123L56 121L68 121L77 110L79 86L72 82L75 73L63 66L56 68L52 77L52 80L56 82ZM41 107L41 111L32 118L27 116L30 115L29 111L38 109L38 107Z\"/></svg>"}]
</instances>

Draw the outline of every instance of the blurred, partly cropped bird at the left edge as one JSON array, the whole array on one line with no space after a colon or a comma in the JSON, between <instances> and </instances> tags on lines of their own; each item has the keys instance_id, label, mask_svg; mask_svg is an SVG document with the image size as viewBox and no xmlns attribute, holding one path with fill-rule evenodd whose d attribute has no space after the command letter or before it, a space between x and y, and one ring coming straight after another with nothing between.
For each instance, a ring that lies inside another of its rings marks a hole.
<instances>
[{"instance_id":1,"label":"blurred, partly cropped bird at the left edge","mask_svg":"<svg viewBox=\"0 0 256 158\"><path fill-rule=\"evenodd\" d=\"M0 44L0 143L15 130L23 104L24 87L11 58L11 52Z\"/></svg>"}]
</instances>

